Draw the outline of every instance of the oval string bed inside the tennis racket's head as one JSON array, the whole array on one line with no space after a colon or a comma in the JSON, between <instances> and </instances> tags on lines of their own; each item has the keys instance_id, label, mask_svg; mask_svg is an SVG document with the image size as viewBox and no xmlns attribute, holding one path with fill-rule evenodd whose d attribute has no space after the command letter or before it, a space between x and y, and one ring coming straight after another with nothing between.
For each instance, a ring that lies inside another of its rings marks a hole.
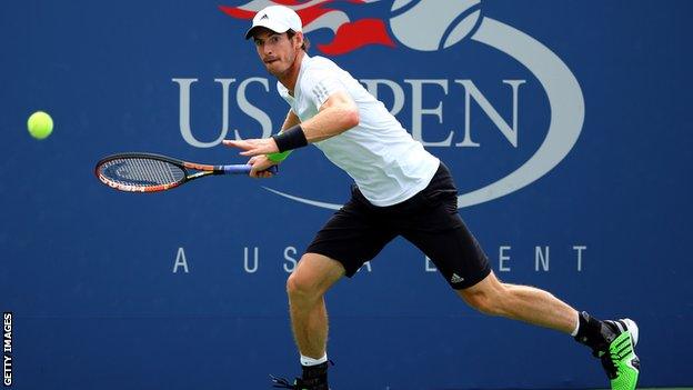
<instances>
[{"instance_id":1,"label":"oval string bed inside the tennis racket's head","mask_svg":"<svg viewBox=\"0 0 693 390\"><path fill-rule=\"evenodd\" d=\"M175 183L185 177L173 163L145 158L114 159L106 162L101 172L118 184L139 187Z\"/></svg>"}]
</instances>

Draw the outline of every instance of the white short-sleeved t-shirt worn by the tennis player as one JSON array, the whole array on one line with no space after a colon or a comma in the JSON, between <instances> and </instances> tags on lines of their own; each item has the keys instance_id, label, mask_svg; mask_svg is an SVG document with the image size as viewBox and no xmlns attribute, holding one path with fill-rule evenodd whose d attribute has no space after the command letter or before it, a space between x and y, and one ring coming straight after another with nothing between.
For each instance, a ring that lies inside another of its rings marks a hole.
<instances>
[{"instance_id":1,"label":"white short-sleeved t-shirt worn by the tennis player","mask_svg":"<svg viewBox=\"0 0 693 390\"><path fill-rule=\"evenodd\" d=\"M303 57L293 91L277 83L279 94L305 121L334 92L344 91L359 107L359 126L315 142L325 157L343 169L363 196L379 207L400 203L423 190L440 161L351 74L323 57Z\"/></svg>"}]
</instances>

